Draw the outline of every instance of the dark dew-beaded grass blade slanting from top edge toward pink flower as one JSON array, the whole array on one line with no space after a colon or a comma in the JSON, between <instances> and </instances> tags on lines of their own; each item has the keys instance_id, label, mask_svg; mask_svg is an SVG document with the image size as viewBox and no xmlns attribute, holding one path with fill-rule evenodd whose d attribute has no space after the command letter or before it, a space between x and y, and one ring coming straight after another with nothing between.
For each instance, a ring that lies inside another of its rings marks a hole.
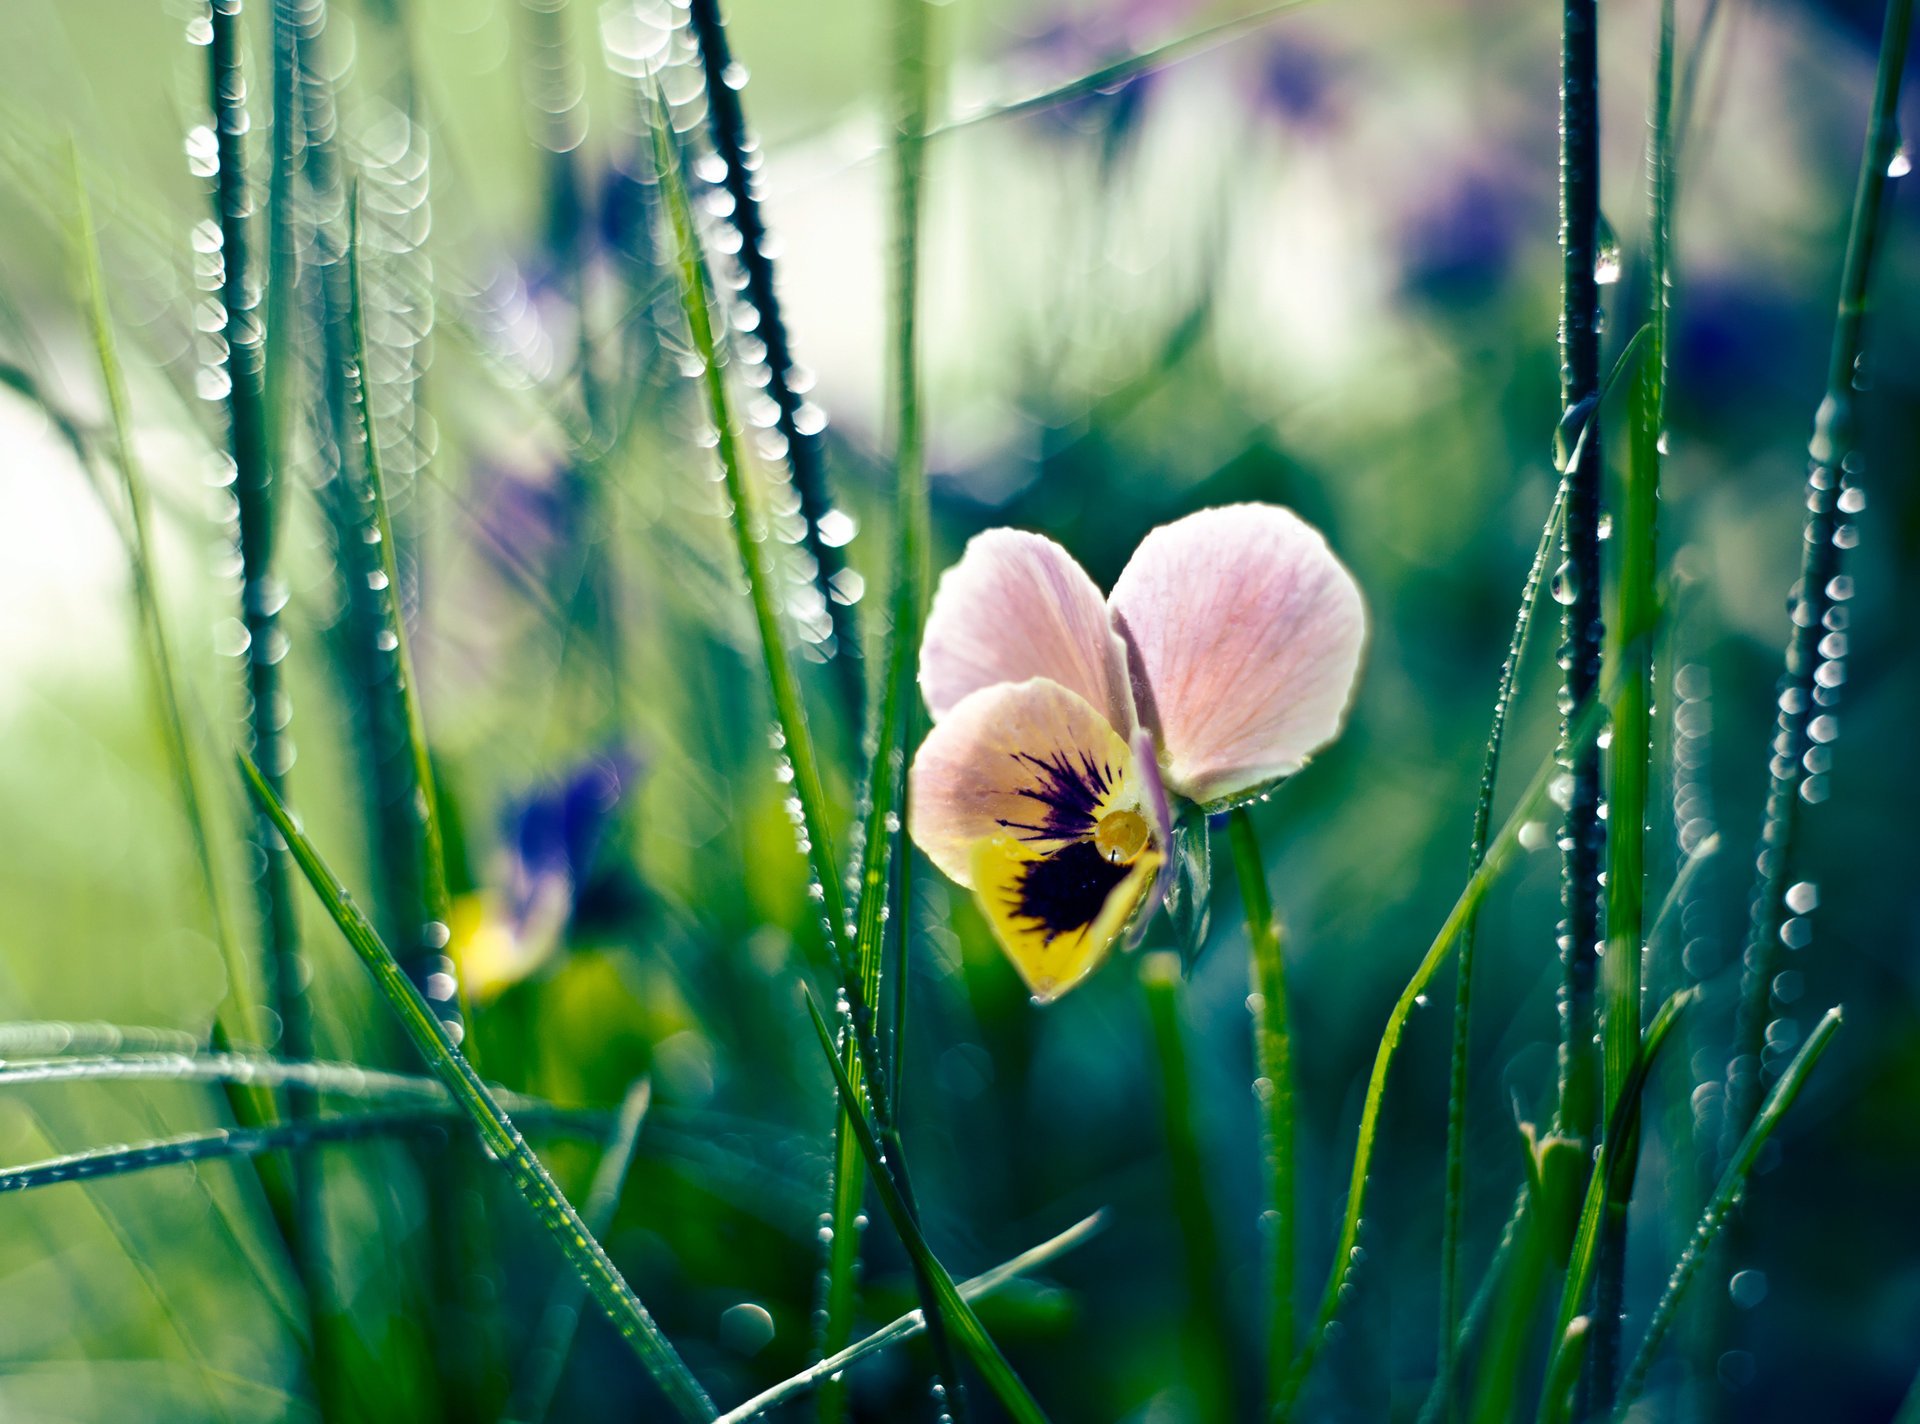
<instances>
[{"instance_id":1,"label":"dark dew-beaded grass blade slanting from top edge toward pink flower","mask_svg":"<svg viewBox=\"0 0 1920 1424\"><path fill-rule=\"evenodd\" d=\"M849 725L858 727L866 716L860 628L854 605L839 595L839 587L845 583L841 574L847 570L847 557L841 553L843 541L829 539L822 532L822 520L833 512L826 478L826 422L820 418L818 407L808 407L804 395L795 390L793 340L780 307L780 294L774 290L774 259L766 242L766 223L760 217L758 146L747 129L747 115L741 107L745 71L733 61L728 46L720 0L689 0L687 23L699 44L701 67L707 75L707 131L712 136L714 155L726 165L718 182L733 202L728 223L739 234L735 261L741 276L747 278L743 296L760 313L753 334L766 347L766 393L774 401L774 430L785 441L787 470L801 505L801 545L814 560L814 589L826 605L833 629L829 662L847 708L847 720Z\"/></svg>"}]
</instances>

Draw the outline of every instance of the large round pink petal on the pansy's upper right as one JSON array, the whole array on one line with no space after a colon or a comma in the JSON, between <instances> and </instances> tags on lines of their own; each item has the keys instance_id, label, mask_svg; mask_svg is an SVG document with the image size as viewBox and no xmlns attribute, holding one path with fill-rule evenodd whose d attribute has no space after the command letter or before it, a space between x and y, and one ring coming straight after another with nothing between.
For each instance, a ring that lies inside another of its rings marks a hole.
<instances>
[{"instance_id":1,"label":"large round pink petal on the pansy's upper right","mask_svg":"<svg viewBox=\"0 0 1920 1424\"><path fill-rule=\"evenodd\" d=\"M1165 524L1108 599L1167 787L1198 802L1298 771L1340 731L1367 612L1319 530L1277 505Z\"/></svg>"}]
</instances>

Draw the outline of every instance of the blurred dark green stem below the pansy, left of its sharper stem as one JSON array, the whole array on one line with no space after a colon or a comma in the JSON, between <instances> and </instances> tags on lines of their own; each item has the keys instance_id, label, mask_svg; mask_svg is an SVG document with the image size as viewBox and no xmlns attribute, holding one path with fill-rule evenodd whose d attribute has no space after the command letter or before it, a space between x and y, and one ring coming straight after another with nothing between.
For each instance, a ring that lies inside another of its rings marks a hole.
<instances>
[{"instance_id":1,"label":"blurred dark green stem below the pansy, left of its sharper stem","mask_svg":"<svg viewBox=\"0 0 1920 1424\"><path fill-rule=\"evenodd\" d=\"M1235 812L1235 827L1240 816L1242 812ZM1277 935L1275 950L1279 950ZM1194 1127L1192 1075L1181 1029L1181 956L1173 950L1140 956L1140 988L1146 996L1154 1056L1160 1059L1160 1113L1167 1136L1173 1215L1187 1265L1187 1388L1192 1393L1196 1418L1231 1420L1236 1418L1236 1409L1233 1361L1227 1355L1233 1340L1225 1317L1227 1272L1219 1255L1219 1228L1208 1205L1206 1159ZM1290 1213L1284 1224L1292 1226ZM1284 1363L1275 1368L1284 1368Z\"/></svg>"}]
</instances>

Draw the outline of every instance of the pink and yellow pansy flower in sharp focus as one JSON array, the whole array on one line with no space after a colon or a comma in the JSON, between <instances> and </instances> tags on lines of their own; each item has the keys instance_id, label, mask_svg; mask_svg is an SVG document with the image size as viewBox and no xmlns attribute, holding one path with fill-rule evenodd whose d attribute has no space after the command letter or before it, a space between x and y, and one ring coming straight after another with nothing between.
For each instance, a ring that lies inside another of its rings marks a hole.
<instances>
[{"instance_id":1,"label":"pink and yellow pansy flower in sharp focus","mask_svg":"<svg viewBox=\"0 0 1920 1424\"><path fill-rule=\"evenodd\" d=\"M1260 795L1332 741L1365 635L1354 576L1275 505L1154 530L1106 599L1052 539L989 530L927 614L914 843L1058 998L1165 892L1175 810Z\"/></svg>"}]
</instances>

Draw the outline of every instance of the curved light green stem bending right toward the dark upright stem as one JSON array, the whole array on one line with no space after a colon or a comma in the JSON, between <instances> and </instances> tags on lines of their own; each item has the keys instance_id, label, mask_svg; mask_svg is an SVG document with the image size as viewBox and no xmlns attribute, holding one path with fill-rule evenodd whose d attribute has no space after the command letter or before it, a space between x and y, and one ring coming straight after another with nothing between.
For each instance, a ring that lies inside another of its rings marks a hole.
<instances>
[{"instance_id":1,"label":"curved light green stem bending right toward the dark upright stem","mask_svg":"<svg viewBox=\"0 0 1920 1424\"><path fill-rule=\"evenodd\" d=\"M1588 699L1584 706L1574 708L1569 718L1572 745L1580 747L1590 741L1599 731L1603 722L1605 704L1599 699ZM1308 1326L1300 1351L1294 1355L1294 1365L1288 1370L1281 1399L1273 1411L1275 1418L1284 1420L1292 1416L1294 1401L1300 1397L1300 1388L1306 1384L1306 1376L1313 1368L1319 1345L1327 1336L1327 1326L1332 1324L1332 1318L1338 1313L1340 1286L1346 1284L1346 1276L1354 1267L1354 1246L1359 1242L1359 1222L1367 1205L1367 1176L1373 1169L1373 1144L1380 1128L1380 1104L1386 1096L1386 1079L1394 1065L1394 1057L1400 1052L1400 1040L1405 1034L1407 1019L1413 1015L1415 1002L1427 992L1427 985L1432 983L1432 977L1440 973L1440 967L1453 952L1467 915L1473 914L1473 908L1480 904L1494 881L1505 873L1507 866L1519 854L1521 825L1540 812L1557 770L1559 760L1557 756L1551 756L1534 771L1526 791L1521 793L1513 812L1500 827L1492 844L1488 844L1486 858L1480 862L1478 869L1467 877L1467 885L1453 902L1453 908L1448 912L1446 921L1440 925L1440 933L1434 935L1425 958L1419 961L1413 977L1407 981L1407 986L1400 990L1400 998L1394 1000L1394 1008L1386 1015L1386 1029L1380 1034L1380 1046L1373 1056L1373 1071L1367 1077L1367 1094L1361 1100L1359 1132L1354 1142L1354 1167L1348 1178L1340 1234L1334 1242L1332 1269L1329 1270L1319 1309L1313 1313L1313 1320Z\"/></svg>"}]
</instances>

